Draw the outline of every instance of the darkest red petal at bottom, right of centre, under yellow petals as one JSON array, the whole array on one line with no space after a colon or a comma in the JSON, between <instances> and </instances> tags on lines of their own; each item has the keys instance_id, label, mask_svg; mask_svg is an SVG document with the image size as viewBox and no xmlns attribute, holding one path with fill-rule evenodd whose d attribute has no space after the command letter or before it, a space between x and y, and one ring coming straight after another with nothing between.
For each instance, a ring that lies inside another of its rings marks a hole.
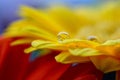
<instances>
[{"instance_id":1,"label":"darkest red petal at bottom, right of centre, under yellow petals","mask_svg":"<svg viewBox=\"0 0 120 80\"><path fill-rule=\"evenodd\" d=\"M80 63L76 66L71 66L59 80L74 80L85 75L94 75L98 80L101 80L103 73L97 70L91 62Z\"/></svg>"}]
</instances>

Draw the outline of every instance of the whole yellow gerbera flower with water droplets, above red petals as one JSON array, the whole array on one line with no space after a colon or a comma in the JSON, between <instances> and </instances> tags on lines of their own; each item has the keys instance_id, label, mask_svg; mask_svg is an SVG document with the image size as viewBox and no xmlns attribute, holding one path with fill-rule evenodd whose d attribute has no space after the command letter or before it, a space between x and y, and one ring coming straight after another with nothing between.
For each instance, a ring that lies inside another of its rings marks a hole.
<instances>
[{"instance_id":1,"label":"whole yellow gerbera flower with water droplets, above red petals","mask_svg":"<svg viewBox=\"0 0 120 80\"><path fill-rule=\"evenodd\" d=\"M31 43L25 52L37 49L59 50L55 59L61 63L92 61L103 72L120 70L120 6L102 8L66 7L46 11L22 6L23 19L11 24L3 34L21 37L12 43ZM34 41L33 41L34 40Z\"/></svg>"}]
</instances>

